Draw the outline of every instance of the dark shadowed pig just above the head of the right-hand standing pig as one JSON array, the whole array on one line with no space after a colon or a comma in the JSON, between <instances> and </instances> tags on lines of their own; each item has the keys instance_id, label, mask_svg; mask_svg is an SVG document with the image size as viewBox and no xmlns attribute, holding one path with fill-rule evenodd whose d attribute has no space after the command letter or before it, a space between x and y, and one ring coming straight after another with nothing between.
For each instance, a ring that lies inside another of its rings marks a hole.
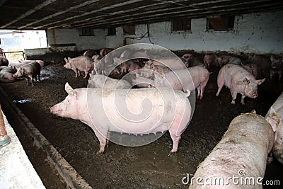
<instances>
[{"instance_id":1,"label":"dark shadowed pig just above the head of the right-hand standing pig","mask_svg":"<svg viewBox=\"0 0 283 189\"><path fill-rule=\"evenodd\" d=\"M258 76L260 79L268 78L270 76L270 59L267 59L266 57L260 55L249 55L248 59L253 64L258 65Z\"/></svg>"}]
</instances>

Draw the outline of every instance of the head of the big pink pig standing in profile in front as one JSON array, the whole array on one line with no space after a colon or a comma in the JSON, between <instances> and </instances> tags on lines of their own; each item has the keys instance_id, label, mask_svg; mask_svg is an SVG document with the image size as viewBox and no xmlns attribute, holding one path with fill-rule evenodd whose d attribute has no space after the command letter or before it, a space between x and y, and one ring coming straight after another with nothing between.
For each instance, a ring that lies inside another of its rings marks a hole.
<instances>
[{"instance_id":1,"label":"head of the big pink pig standing in profile in front","mask_svg":"<svg viewBox=\"0 0 283 189\"><path fill-rule=\"evenodd\" d=\"M78 119L78 105L79 101L77 99L77 93L76 91L69 86L68 83L65 84L65 91L69 94L64 101L61 103L57 103L50 107L50 113L64 117L64 118L72 118L72 119Z\"/></svg>"}]
</instances>

